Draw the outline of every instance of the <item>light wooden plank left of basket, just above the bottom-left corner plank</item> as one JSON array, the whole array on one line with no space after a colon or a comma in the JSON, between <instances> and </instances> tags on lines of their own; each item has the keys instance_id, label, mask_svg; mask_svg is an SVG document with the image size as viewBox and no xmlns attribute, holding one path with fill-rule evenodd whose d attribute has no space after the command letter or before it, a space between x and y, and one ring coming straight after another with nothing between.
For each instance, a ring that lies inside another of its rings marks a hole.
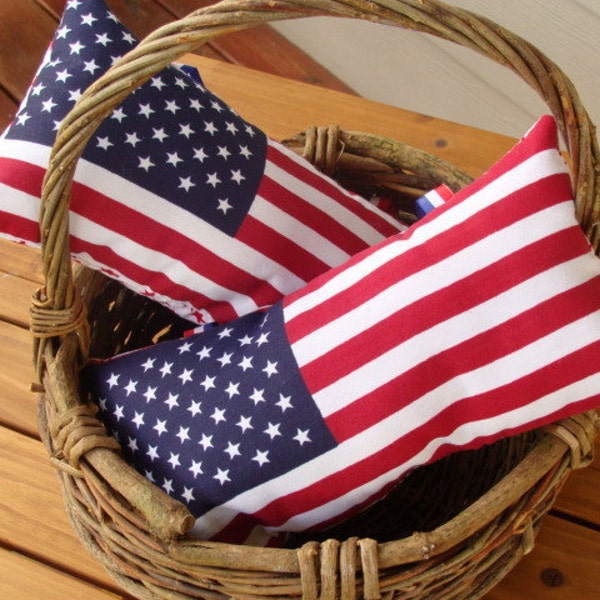
<instances>
[{"instance_id":1,"label":"light wooden plank left of basket, just above the bottom-left corner plank","mask_svg":"<svg viewBox=\"0 0 600 600\"><path fill-rule=\"evenodd\" d=\"M117 589L75 535L41 442L0 428L0 481L0 544Z\"/></svg>"}]
</instances>

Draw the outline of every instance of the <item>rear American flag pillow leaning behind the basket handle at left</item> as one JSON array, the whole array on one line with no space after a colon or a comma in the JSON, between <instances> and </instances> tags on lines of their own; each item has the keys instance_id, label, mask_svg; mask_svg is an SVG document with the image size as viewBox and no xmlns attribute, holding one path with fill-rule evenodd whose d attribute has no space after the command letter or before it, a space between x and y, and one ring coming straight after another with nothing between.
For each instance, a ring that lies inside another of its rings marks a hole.
<instances>
[{"instance_id":1,"label":"rear American flag pillow leaning behind the basket handle at left","mask_svg":"<svg viewBox=\"0 0 600 600\"><path fill-rule=\"evenodd\" d=\"M0 140L0 231L39 241L58 125L136 40L103 0L71 0ZM401 225L267 138L182 70L135 90L75 175L71 250L196 322L268 306Z\"/></svg>"}]
</instances>

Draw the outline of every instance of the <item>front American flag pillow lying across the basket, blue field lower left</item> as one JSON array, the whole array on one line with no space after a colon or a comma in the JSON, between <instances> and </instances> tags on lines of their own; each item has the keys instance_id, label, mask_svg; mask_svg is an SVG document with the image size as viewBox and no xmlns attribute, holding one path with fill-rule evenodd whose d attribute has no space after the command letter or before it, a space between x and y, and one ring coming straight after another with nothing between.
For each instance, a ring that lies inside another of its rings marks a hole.
<instances>
[{"instance_id":1,"label":"front American flag pillow lying across the basket, blue field lower left","mask_svg":"<svg viewBox=\"0 0 600 600\"><path fill-rule=\"evenodd\" d=\"M264 312L90 366L203 538L325 527L411 469L600 405L600 261L543 117L405 233Z\"/></svg>"}]
</instances>

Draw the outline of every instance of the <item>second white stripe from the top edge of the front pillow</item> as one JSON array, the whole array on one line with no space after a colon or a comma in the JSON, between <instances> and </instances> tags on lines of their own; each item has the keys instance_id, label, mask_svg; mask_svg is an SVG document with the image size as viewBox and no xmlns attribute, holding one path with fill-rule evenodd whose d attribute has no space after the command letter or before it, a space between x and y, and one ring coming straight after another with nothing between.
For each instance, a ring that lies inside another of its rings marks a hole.
<instances>
[{"instance_id":1,"label":"second white stripe from the top edge of the front pillow","mask_svg":"<svg viewBox=\"0 0 600 600\"><path fill-rule=\"evenodd\" d=\"M292 344L300 366L360 335L398 310L444 289L549 234L574 225L573 203L564 202L526 217L471 246L391 285L356 308Z\"/></svg>"}]
</instances>

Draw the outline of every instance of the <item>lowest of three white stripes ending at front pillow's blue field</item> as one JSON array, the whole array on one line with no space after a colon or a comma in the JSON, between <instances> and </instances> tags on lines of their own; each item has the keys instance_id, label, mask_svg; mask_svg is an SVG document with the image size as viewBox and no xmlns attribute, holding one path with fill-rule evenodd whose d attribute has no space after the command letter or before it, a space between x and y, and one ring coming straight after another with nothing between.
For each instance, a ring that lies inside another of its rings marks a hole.
<instances>
[{"instance_id":1,"label":"lowest of three white stripes ending at front pillow's blue field","mask_svg":"<svg viewBox=\"0 0 600 600\"><path fill-rule=\"evenodd\" d=\"M327 417L423 361L598 276L593 255L548 269L468 311L422 331L313 394Z\"/></svg>"}]
</instances>

